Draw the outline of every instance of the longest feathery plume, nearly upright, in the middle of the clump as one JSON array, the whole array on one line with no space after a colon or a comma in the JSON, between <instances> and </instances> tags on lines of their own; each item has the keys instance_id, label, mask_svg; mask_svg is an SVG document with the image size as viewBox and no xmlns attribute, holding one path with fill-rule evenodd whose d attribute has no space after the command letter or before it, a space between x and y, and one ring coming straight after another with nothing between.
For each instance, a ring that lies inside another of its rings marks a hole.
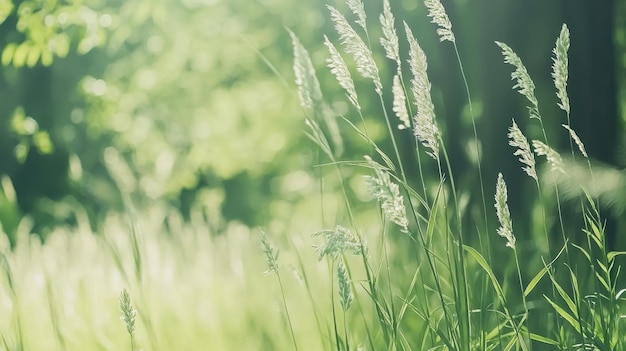
<instances>
[{"instance_id":1,"label":"longest feathery plume, nearly upright, in the middle of the clump","mask_svg":"<svg viewBox=\"0 0 626 351\"><path fill-rule=\"evenodd\" d=\"M430 151L427 152L432 158L439 161L439 128L435 123L435 105L430 96L430 81L426 72L428 64L426 54L413 36L411 29L404 22L404 29L409 41L409 67L413 79L411 79L411 92L415 97L417 113L413 117L415 127L413 134Z\"/></svg>"}]
</instances>

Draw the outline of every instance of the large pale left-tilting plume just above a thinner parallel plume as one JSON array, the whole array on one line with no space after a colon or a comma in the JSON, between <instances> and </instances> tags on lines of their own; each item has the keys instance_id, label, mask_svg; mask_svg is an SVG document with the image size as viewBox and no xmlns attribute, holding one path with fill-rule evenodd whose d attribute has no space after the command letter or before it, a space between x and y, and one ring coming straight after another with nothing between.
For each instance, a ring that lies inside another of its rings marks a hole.
<instances>
[{"instance_id":1,"label":"large pale left-tilting plume just above a thinner parallel plume","mask_svg":"<svg viewBox=\"0 0 626 351\"><path fill-rule=\"evenodd\" d=\"M339 34L339 40L344 45L348 54L352 55L356 62L357 71L364 77L374 82L376 93L383 93L383 85L378 76L378 67L374 61L372 51L367 47L363 39L354 31L348 20L334 7L327 5L330 18L335 23L335 30Z\"/></svg>"}]
</instances>

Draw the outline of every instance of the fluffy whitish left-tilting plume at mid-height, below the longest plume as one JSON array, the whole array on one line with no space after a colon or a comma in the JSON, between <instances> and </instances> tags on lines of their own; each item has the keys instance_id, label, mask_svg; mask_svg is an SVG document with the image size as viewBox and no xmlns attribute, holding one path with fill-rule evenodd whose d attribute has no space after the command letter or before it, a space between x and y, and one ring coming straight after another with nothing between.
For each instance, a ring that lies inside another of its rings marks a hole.
<instances>
[{"instance_id":1,"label":"fluffy whitish left-tilting plume at mid-height, below the longest plume","mask_svg":"<svg viewBox=\"0 0 626 351\"><path fill-rule=\"evenodd\" d=\"M380 207L385 217L400 226L402 232L408 233L409 220L398 184L391 181L389 173L383 169L383 166L369 156L365 156L365 159L376 174L375 177L365 176L369 193L381 203Z\"/></svg>"}]
</instances>

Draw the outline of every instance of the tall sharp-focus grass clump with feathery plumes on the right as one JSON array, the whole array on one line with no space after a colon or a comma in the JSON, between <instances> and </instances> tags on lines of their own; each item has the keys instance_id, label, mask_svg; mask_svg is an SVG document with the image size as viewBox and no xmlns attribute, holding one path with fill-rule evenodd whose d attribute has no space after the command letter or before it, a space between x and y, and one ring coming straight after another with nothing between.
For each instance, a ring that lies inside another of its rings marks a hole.
<instances>
[{"instance_id":1,"label":"tall sharp-focus grass clump with feathery plumes on the right","mask_svg":"<svg viewBox=\"0 0 626 351\"><path fill-rule=\"evenodd\" d=\"M463 38L455 35L453 24L439 0L425 0L424 5L428 17L436 24L440 41L448 43L444 50L451 50L450 54L458 59L457 69L461 72L470 106L474 145L479 145L469 84L456 46ZM529 123L536 123L542 136L529 141L515 119L508 131L502 131L513 147L511 156L519 159L521 170L535 184L535 196L540 204L538 227L543 228L545 243L528 242L526 237L523 240L526 246L547 249L535 250L534 257L523 259L517 250L519 239L514 235L515 223L509 211L505 179L501 173L483 174L481 163L485 160L478 147L475 171L481 201L471 202L469 206L476 206L483 223L476 223L476 217L472 217L473 223L468 225L467 203L460 195L473 190L460 189L455 182L446 136L439 128L439 108L431 97L427 54L410 26L402 23L398 28L389 1L384 0L379 14L382 34L380 38L373 38L371 33L378 31L369 30L363 3L351 0L347 1L347 6L349 16L328 6L337 39L331 39L331 34L323 36L329 51L330 73L345 90L353 107L344 115L334 113L329 107L308 52L297 35L290 32L296 85L309 137L321 150L320 168L334 169L334 178L320 172L319 181L328 184L334 179L343 194L343 204L334 215L336 223L331 225L335 229L323 229L314 234L324 237L325 243L318 246L318 254L320 259L328 258L329 273L336 274L338 281L326 292L332 301L326 311L320 310L315 301L323 290L307 285L316 315L332 315L330 324L318 325L326 348L626 349L626 341L620 337L626 331L620 323L626 290L618 283L620 267L615 260L624 253L608 250L599 206L590 196L581 197L579 201L583 228L572 231L564 225L562 196L555 179L567 177L566 167L563 157L548 140L535 84L522 58L507 44L495 43L502 49L504 63L513 66L513 90L529 103ZM350 22L350 17L356 25ZM403 29L406 41L399 39L398 29ZM391 64L376 62L375 52L381 48L372 43L377 42L382 46L383 57ZM569 30L563 25L552 51L552 79L558 106L565 112L563 127L570 138L571 158L573 162L585 163L589 176L593 177L583 141L570 124L569 45ZM403 58L400 52L407 52L408 56ZM349 62L345 58L349 58ZM364 85L369 87L355 83L352 78L355 74L365 78L367 84ZM386 76L393 77L390 86L385 86L387 80L381 78ZM360 96L365 95L368 88L373 90L380 104L369 103L367 106L375 110L367 115L381 116L385 120L391 150L372 140L366 129ZM397 119L392 121L392 116ZM337 125L344 138L334 135ZM369 148L365 161L342 159L336 141L346 140L348 133L359 136ZM415 153L410 157L399 152L396 141L407 139L407 133L412 134L410 138L414 140ZM428 157L423 158L424 155ZM429 158L434 163L428 161ZM418 167L411 169L419 169L419 174L409 176L406 166L412 163L417 163ZM544 164L547 171L542 172L540 166ZM363 174L365 189L379 203L377 227L373 228L369 219L355 212L357 206L361 207L362 199L350 191L348 183L353 184L354 178L346 176L347 169ZM486 199L491 196L485 189L494 188L494 207L487 207ZM320 189L327 188L321 186ZM324 213L324 202L321 206L320 211ZM549 213L555 213L557 218L549 218ZM497 228L489 223L494 217L499 222ZM580 238L579 232L584 233L586 240L576 241ZM497 240L497 235L504 243ZM264 251L267 253L267 249ZM355 260L354 256L359 259ZM507 256L508 259L499 262ZM537 265L527 264L530 262L539 263L539 269L534 270L532 267ZM357 308L349 310L351 305ZM299 320L289 320L297 328Z\"/></svg>"}]
</instances>

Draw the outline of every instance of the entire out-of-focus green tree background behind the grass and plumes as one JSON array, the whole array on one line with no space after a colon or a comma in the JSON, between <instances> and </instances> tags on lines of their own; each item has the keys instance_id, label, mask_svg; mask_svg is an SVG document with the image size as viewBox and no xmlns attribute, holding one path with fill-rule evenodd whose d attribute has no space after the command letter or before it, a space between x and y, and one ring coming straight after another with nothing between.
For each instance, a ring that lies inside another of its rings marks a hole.
<instances>
[{"instance_id":1,"label":"entire out-of-focus green tree background behind the grass and plumes","mask_svg":"<svg viewBox=\"0 0 626 351\"><path fill-rule=\"evenodd\" d=\"M56 226L75 225L80 212L97 231L108 213L141 212L156 203L180 211L183 219L202 209L214 233L233 222L279 228L310 222L317 211L306 204L319 194L317 150L304 134L286 28L309 49L331 106L349 115L343 92L325 69L323 34L336 38L327 2L0 0L3 230L14 242L13 233L28 217L33 232L45 238ZM330 3L346 8L342 1ZM365 3L374 23L382 5ZM428 55L453 168L474 201L480 189L470 171L476 162L473 134L456 57L449 43L438 42L420 1L391 5ZM523 129L529 125L529 138L540 131L530 125L523 98L510 89L511 67L494 41L508 43L524 60L546 129L554 133L553 147L568 150L560 128L566 119L550 77L554 41L562 23L568 24L572 126L597 167L612 176L592 190L610 209L610 229L624 230L626 2L444 5L473 94L488 194L503 172L519 217L530 200L523 196L526 185L518 186L525 175L507 145L507 128L515 118ZM382 51L375 51L383 67ZM381 72L390 82L393 70ZM361 104L370 111L366 123L385 145L384 120L367 107L376 101L367 95L373 89L361 84L367 88L359 91ZM348 134L342 158L361 159L367 146ZM400 142L412 157L409 136ZM416 175L416 166L410 171ZM523 232L526 222L516 223Z\"/></svg>"}]
</instances>

